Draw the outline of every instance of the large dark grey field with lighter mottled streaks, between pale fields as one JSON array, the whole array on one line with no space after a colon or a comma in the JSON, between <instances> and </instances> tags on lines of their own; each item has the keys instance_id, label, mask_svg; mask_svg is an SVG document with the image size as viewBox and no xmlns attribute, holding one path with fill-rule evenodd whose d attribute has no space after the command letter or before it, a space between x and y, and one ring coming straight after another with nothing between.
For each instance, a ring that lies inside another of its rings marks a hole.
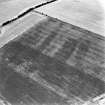
<instances>
[{"instance_id":1,"label":"large dark grey field with lighter mottled streaks, between pale fields","mask_svg":"<svg viewBox=\"0 0 105 105\"><path fill-rule=\"evenodd\" d=\"M13 105L81 105L105 92L104 44L48 17L0 49L0 93Z\"/></svg>"}]
</instances>

